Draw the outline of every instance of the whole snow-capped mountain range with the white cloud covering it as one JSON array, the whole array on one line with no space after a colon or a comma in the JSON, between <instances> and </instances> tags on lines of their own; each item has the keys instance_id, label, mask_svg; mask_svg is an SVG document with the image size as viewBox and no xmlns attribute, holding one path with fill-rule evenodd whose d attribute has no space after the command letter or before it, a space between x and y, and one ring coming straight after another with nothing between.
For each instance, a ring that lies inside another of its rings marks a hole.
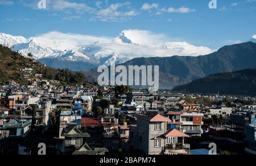
<instances>
[{"instance_id":1,"label":"whole snow-capped mountain range with the white cloud covering it","mask_svg":"<svg viewBox=\"0 0 256 166\"><path fill-rule=\"evenodd\" d=\"M0 44L23 56L31 53L35 60L53 68L73 70L121 64L135 57L199 56L214 51L187 42L168 42L163 35L140 30L125 30L115 38L49 32L26 39L0 33Z\"/></svg>"}]
</instances>

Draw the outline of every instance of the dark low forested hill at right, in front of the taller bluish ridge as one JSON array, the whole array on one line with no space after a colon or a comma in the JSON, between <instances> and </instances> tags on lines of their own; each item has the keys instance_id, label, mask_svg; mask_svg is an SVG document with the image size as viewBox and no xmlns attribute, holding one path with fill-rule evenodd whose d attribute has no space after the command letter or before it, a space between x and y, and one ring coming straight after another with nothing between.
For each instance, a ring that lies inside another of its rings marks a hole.
<instances>
[{"instance_id":1,"label":"dark low forested hill at right, in front of the taller bluish ridge","mask_svg":"<svg viewBox=\"0 0 256 166\"><path fill-rule=\"evenodd\" d=\"M256 94L256 69L217 73L174 88L175 91L221 94Z\"/></svg>"}]
</instances>

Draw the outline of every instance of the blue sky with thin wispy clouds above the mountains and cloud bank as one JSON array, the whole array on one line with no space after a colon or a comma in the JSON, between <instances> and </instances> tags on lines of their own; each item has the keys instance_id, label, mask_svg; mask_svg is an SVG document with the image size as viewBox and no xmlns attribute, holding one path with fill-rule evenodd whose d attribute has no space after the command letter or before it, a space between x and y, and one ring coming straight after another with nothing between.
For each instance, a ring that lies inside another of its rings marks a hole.
<instances>
[{"instance_id":1,"label":"blue sky with thin wispy clouds above the mountains and cloud bank","mask_svg":"<svg viewBox=\"0 0 256 166\"><path fill-rule=\"evenodd\" d=\"M245 42L256 34L256 0L0 0L0 32L26 38L51 31L117 36L147 30L213 49Z\"/></svg>"}]
</instances>

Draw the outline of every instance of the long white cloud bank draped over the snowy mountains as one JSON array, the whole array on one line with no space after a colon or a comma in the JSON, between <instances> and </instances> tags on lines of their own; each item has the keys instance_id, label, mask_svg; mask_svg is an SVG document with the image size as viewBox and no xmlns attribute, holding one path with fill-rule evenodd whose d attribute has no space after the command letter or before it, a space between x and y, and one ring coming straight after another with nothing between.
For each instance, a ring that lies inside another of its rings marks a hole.
<instances>
[{"instance_id":1,"label":"long white cloud bank draped over the snowy mountains","mask_svg":"<svg viewBox=\"0 0 256 166\"><path fill-rule=\"evenodd\" d=\"M213 52L213 49L208 47L196 46L187 42L170 42L171 39L168 36L151 31L124 30L123 33L135 44L122 43L113 37L64 34L57 31L33 38L47 47L61 51L84 45L93 50L97 48L99 51L115 52L127 57L198 56Z\"/></svg>"}]
</instances>

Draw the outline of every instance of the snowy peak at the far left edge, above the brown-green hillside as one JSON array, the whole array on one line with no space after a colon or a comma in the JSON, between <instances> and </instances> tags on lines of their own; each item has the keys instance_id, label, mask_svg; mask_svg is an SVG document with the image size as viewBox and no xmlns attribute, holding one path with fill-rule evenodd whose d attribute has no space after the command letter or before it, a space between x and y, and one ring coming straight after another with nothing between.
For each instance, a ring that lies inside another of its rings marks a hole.
<instances>
[{"instance_id":1,"label":"snowy peak at the far left edge, above the brown-green hillside","mask_svg":"<svg viewBox=\"0 0 256 166\"><path fill-rule=\"evenodd\" d=\"M6 47L12 47L15 44L26 43L27 39L22 36L11 36L8 34L0 33L0 44Z\"/></svg>"}]
</instances>

